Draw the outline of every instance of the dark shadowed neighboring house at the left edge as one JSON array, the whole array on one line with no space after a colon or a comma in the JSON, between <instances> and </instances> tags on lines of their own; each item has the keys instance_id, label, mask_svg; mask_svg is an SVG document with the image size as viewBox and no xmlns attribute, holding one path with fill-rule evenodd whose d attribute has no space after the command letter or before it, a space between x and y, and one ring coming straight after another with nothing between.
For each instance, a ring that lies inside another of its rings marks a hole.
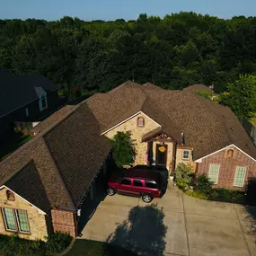
<instances>
[{"instance_id":1,"label":"dark shadowed neighboring house at the left edge","mask_svg":"<svg viewBox=\"0 0 256 256\"><path fill-rule=\"evenodd\" d=\"M27 132L60 105L57 85L40 75L0 69L0 133Z\"/></svg>"}]
</instances>

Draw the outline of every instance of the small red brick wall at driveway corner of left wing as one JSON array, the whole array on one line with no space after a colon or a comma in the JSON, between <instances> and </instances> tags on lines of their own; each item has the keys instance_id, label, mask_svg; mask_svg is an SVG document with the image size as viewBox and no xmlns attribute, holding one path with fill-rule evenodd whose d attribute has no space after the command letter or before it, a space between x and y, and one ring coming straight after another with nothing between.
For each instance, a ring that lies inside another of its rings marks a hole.
<instances>
[{"instance_id":1,"label":"small red brick wall at driveway corner of left wing","mask_svg":"<svg viewBox=\"0 0 256 256\"><path fill-rule=\"evenodd\" d=\"M52 225L54 231L68 233L76 236L76 219L75 213L70 211L52 209L51 210Z\"/></svg>"}]
</instances>

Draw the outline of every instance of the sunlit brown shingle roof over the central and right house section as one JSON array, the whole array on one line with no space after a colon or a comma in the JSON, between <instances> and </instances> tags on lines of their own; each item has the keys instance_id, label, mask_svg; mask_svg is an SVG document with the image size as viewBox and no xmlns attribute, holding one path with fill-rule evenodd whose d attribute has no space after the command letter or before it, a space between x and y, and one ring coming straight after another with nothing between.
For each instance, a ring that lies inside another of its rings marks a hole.
<instances>
[{"instance_id":1,"label":"sunlit brown shingle roof over the central and right house section","mask_svg":"<svg viewBox=\"0 0 256 256\"><path fill-rule=\"evenodd\" d=\"M193 88L201 86L204 85L194 85ZM176 141L181 142L181 133L184 133L186 146L194 149L195 159L231 144L256 159L255 146L227 107L186 90L155 87L154 84L140 85L128 81L110 93L95 94L86 102L102 124L102 132L142 110Z\"/></svg>"}]
</instances>

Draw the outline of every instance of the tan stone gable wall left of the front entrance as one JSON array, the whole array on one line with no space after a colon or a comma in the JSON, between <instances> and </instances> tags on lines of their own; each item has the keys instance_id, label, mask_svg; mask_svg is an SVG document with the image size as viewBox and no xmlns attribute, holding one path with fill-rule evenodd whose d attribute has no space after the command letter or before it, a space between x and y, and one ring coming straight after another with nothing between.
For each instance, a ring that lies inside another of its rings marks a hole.
<instances>
[{"instance_id":1,"label":"tan stone gable wall left of the front entrance","mask_svg":"<svg viewBox=\"0 0 256 256\"><path fill-rule=\"evenodd\" d=\"M137 127L138 117L143 117L145 119L144 128ZM132 119L128 119L125 123L119 125L119 127L111 129L109 132L105 134L105 136L112 138L118 131L121 131L121 132L131 131L131 137L135 143L135 147L137 151L135 164L146 164L147 143L146 142L142 143L141 138L146 133L158 127L160 126L157 125L152 119L149 119L145 114L138 114Z\"/></svg>"}]
</instances>

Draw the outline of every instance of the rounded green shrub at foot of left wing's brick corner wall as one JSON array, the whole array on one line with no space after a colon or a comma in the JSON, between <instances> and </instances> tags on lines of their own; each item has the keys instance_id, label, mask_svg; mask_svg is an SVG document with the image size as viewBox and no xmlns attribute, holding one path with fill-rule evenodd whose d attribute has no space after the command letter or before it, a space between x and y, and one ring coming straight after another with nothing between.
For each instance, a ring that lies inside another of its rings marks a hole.
<instances>
[{"instance_id":1,"label":"rounded green shrub at foot of left wing's brick corner wall","mask_svg":"<svg viewBox=\"0 0 256 256\"><path fill-rule=\"evenodd\" d=\"M72 237L67 233L57 231L49 235L46 246L47 254L63 252L71 241Z\"/></svg>"}]
</instances>

